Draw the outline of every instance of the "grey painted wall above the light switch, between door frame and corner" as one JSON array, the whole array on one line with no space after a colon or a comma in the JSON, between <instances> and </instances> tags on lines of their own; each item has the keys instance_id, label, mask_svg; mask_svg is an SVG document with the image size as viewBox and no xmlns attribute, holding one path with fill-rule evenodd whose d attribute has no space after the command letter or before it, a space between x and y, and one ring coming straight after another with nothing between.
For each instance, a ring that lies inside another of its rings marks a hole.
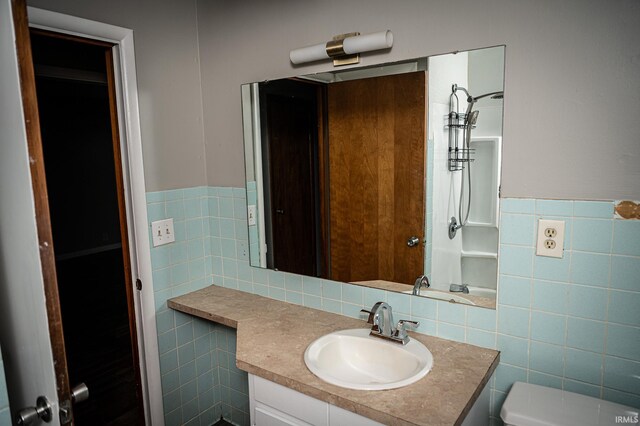
<instances>
[{"instance_id":1,"label":"grey painted wall above the light switch, between door frame and corner","mask_svg":"<svg viewBox=\"0 0 640 426\"><path fill-rule=\"evenodd\" d=\"M146 189L206 185L196 1L28 4L134 31Z\"/></svg>"}]
</instances>

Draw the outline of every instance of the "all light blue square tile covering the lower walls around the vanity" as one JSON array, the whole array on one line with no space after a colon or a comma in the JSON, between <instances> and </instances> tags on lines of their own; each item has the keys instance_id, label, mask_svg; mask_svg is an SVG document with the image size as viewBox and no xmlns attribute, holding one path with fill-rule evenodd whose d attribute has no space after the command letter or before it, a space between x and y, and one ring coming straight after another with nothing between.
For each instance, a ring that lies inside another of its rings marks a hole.
<instances>
[{"instance_id":1,"label":"all light blue square tile covering the lower walls around the vanity","mask_svg":"<svg viewBox=\"0 0 640 426\"><path fill-rule=\"evenodd\" d=\"M212 283L351 317L383 300L398 317L419 320L419 332L499 349L495 423L518 380L640 407L640 221L613 219L613 202L502 199L494 311L252 268L245 194L214 187L147 194L149 221L173 217L176 227L175 243L151 250L168 425L210 424L220 415L249 422L234 331L166 307L168 298ZM539 218L565 221L562 259L535 255Z\"/></svg>"}]
</instances>

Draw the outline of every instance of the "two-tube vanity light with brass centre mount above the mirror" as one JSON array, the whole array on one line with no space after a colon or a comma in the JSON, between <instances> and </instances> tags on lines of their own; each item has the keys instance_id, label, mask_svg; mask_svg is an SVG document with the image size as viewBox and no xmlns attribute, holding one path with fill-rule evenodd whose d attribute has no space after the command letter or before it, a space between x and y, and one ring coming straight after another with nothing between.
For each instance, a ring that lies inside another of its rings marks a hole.
<instances>
[{"instance_id":1,"label":"two-tube vanity light with brass centre mount above the mirror","mask_svg":"<svg viewBox=\"0 0 640 426\"><path fill-rule=\"evenodd\" d=\"M293 64L333 59L333 66L351 65L360 62L359 53L389 49L393 46L390 30L360 35L360 33L340 34L333 40L314 46L301 47L289 52Z\"/></svg>"}]
</instances>

